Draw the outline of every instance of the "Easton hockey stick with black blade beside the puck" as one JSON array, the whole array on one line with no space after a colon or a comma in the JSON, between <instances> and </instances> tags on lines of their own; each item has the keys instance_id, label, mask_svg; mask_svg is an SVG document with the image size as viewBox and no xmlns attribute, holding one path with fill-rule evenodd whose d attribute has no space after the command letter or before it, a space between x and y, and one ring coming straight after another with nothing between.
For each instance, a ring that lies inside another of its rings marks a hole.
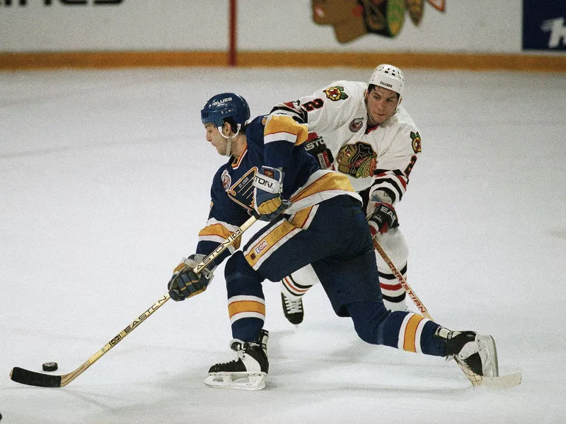
<instances>
[{"instance_id":1,"label":"Easton hockey stick with black blade beside the puck","mask_svg":"<svg viewBox=\"0 0 566 424\"><path fill-rule=\"evenodd\" d=\"M258 220L258 218L252 216L245 223L243 223L241 227L238 228L236 231L234 231L230 237L224 240L224 242L221 242L221 244L218 247L216 247L216 249L214 249L214 252L212 252L207 257L202 259L202 262L200 262L200 264L195 266L195 269L193 271L195 271L195 273L200 273L200 271L202 271L202 269L204 269L208 264L210 264L210 262L212 262L214 259L219 257L219 254L224 252L224 250L226 250L234 240L240 237L244 231L248 230L248 228L250 228L250 226L253 223L255 223L256 220ZM151 305L151 307L149 307L148 310L146 310L143 314L139 315L139 317L134 319L134 321L131 324L129 324L122 331L120 331L120 333L118 333L117 336L115 336L115 338L112 338L112 340L106 343L103 346L103 348L100 349L100 351L92 355L91 358L88 358L86 362L83 363L83 365L78 367L76 370L69 372L69 374L49 375L49 374L42 374L41 372L24 370L23 368L20 367L14 367L13 370L11 370L10 372L10 378L16 383L28 384L28 386L37 386L37 387L67 386L67 384L69 384L74 379L76 379L76 377L79 377L79 375L85 372L88 367L93 365L93 363L96 363L97 360L102 358L102 356L105 353L107 353L108 351L110 351L110 349L112 349L114 346L120 343L120 341L122 341L128 334L134 331L134 329L137 326L139 326L141 322L144 322L144 320L147 319L147 317L149 317L151 314L156 312L156 310L158 310L161 306L163 306L163 304L167 302L169 299L170 299L169 293L166 293L165 295L161 296L161 298L159 298L157 302Z\"/></svg>"}]
</instances>

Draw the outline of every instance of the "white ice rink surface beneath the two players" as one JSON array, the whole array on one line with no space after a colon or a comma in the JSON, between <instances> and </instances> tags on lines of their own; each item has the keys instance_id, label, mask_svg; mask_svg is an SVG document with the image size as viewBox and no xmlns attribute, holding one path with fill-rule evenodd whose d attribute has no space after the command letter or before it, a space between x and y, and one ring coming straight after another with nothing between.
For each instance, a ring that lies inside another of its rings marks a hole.
<instances>
[{"instance_id":1,"label":"white ice rink surface beneath the two players","mask_svg":"<svg viewBox=\"0 0 566 424\"><path fill-rule=\"evenodd\" d=\"M319 286L294 329L266 282L267 387L209 389L209 366L231 359L222 266L69 386L8 378L46 361L71 372L166 292L224 161L200 124L209 97L236 91L257 115L369 73L0 73L2 424L566 422L563 74L405 72L423 148L398 206L408 281L441 324L495 336L521 386L471 389L454 363L367 345Z\"/></svg>"}]
</instances>

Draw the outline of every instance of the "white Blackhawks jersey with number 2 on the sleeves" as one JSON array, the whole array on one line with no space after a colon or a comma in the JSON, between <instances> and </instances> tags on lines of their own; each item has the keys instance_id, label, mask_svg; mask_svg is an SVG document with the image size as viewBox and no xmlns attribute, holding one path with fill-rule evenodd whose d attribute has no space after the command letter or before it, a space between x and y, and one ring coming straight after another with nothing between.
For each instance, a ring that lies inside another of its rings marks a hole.
<instances>
[{"instance_id":1,"label":"white Blackhawks jersey with number 2 on the sleeves","mask_svg":"<svg viewBox=\"0 0 566 424\"><path fill-rule=\"evenodd\" d=\"M371 187L371 197L379 189L380 197L384 193L395 204L405 194L421 151L419 131L403 106L383 124L368 128L366 89L367 83L335 81L312 95L277 105L272 113L289 114L308 124L308 131L316 135L312 134L306 148L321 167L348 175L357 192ZM332 153L330 160L321 141Z\"/></svg>"}]
</instances>

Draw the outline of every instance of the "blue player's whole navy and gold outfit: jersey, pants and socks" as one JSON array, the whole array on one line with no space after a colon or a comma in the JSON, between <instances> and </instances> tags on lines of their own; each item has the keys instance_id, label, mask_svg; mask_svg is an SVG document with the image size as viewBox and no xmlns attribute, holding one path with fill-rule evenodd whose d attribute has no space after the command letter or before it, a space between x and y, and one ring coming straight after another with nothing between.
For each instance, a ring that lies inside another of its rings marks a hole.
<instances>
[{"instance_id":1,"label":"blue player's whole navy and gold outfit: jersey, pants and socks","mask_svg":"<svg viewBox=\"0 0 566 424\"><path fill-rule=\"evenodd\" d=\"M364 341L446 355L445 343L434 336L438 324L410 312L390 312L383 305L361 198L347 175L318 169L301 146L306 125L284 115L258 117L246 128L246 136L240 157L230 158L214 175L212 206L207 226L199 233L197 253L209 254L248 220L253 177L262 165L283 168L282 196L291 206L226 261L233 338L258 338L265 322L263 281L280 281L311 264L336 314L352 317ZM238 247L239 242L233 249ZM219 259L228 254L226 249Z\"/></svg>"}]
</instances>

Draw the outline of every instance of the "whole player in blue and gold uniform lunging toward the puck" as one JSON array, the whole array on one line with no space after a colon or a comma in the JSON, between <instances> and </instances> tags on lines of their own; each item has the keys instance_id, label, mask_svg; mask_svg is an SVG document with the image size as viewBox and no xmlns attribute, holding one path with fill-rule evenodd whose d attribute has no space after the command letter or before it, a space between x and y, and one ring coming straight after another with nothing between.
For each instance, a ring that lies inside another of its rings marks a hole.
<instances>
[{"instance_id":1,"label":"whole player in blue and gold uniform lunging toward the puck","mask_svg":"<svg viewBox=\"0 0 566 424\"><path fill-rule=\"evenodd\" d=\"M450 331L419 314L386 309L362 200L347 176L320 170L306 152L306 124L277 114L250 121L248 103L235 93L208 100L201 119L207 141L229 160L214 175L212 206L196 253L177 266L168 290L176 301L202 293L217 264L229 257L224 272L231 348L238 358L213 365L205 384L265 387L269 363L262 282L280 281L306 264L313 266L335 313L351 317L367 343L454 356L478 375L498 375L491 336ZM242 250L239 245L227 249L216 264L195 274L202 258L250 214L269 223Z\"/></svg>"}]
</instances>

